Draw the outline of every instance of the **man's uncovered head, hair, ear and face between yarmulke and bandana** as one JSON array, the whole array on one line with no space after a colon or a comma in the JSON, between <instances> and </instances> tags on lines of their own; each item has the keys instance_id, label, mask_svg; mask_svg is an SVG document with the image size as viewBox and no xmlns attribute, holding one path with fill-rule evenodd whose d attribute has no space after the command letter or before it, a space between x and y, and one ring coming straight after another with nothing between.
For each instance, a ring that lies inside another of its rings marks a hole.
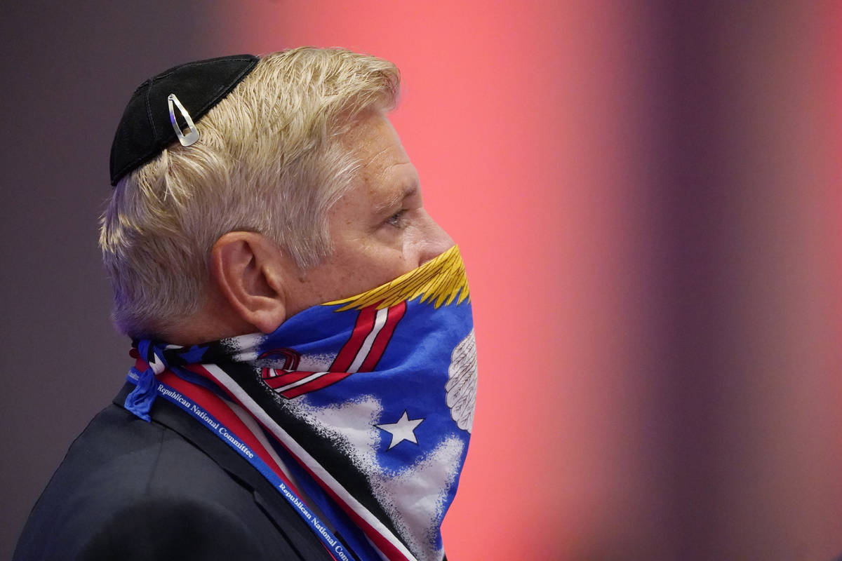
<instances>
[{"instance_id":1,"label":"man's uncovered head, hair, ear and face between yarmulke and bandana","mask_svg":"<svg viewBox=\"0 0 842 561\"><path fill-rule=\"evenodd\" d=\"M123 177L100 235L120 329L173 342L272 331L452 245L384 116L398 88L372 56L274 53L201 117L197 143Z\"/></svg>"}]
</instances>

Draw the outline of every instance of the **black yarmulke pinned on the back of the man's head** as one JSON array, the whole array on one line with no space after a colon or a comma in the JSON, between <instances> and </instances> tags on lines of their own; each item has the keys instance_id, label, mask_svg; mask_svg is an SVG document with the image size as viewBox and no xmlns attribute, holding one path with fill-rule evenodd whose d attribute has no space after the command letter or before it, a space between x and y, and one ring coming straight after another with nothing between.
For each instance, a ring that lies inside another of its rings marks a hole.
<instances>
[{"instance_id":1,"label":"black yarmulke pinned on the back of the man's head","mask_svg":"<svg viewBox=\"0 0 842 561\"><path fill-rule=\"evenodd\" d=\"M174 93L194 123L246 77L260 59L221 56L188 62L149 78L132 94L111 145L111 185L176 140L167 98ZM178 114L178 113L177 113ZM180 117L180 114L179 114ZM200 130L201 127L196 125Z\"/></svg>"}]
</instances>

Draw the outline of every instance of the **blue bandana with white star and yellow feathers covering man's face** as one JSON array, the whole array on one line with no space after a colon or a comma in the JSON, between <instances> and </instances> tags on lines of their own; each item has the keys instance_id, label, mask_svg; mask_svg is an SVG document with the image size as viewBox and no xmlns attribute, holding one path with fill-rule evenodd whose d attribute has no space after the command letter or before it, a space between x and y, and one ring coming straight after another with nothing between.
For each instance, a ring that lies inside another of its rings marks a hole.
<instances>
[{"instance_id":1,"label":"blue bandana with white star and yellow feathers covering man's face","mask_svg":"<svg viewBox=\"0 0 842 561\"><path fill-rule=\"evenodd\" d=\"M257 421L254 437L358 557L443 557L440 526L477 388L456 246L390 283L303 310L269 335L189 348L139 341L137 350L127 409L148 419L163 394L156 377L182 394L210 389Z\"/></svg>"}]
</instances>

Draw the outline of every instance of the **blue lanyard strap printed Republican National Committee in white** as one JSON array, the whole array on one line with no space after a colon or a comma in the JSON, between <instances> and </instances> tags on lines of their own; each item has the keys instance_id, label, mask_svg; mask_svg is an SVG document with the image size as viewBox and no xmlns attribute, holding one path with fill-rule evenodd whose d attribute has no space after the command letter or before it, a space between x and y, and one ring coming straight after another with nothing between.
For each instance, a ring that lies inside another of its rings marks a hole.
<instances>
[{"instance_id":1,"label":"blue lanyard strap printed Republican National Committee in white","mask_svg":"<svg viewBox=\"0 0 842 561\"><path fill-rule=\"evenodd\" d=\"M136 370L132 368L126 377L126 380L131 382L131 384L137 384L138 378ZM269 468L269 466L266 465L266 463L260 459L257 454L253 453L248 446L237 440L234 432L229 431L228 428L223 425L221 421L217 420L215 416L210 415L208 411L202 408L199 404L195 403L194 400L179 392L179 390L174 389L157 379L155 380L155 390L158 395L162 396L170 403L178 405L181 410L184 410L186 413L195 418L196 421L199 421L200 425L204 425L208 428L208 430L215 433L222 442L225 442L228 447L231 447L232 450L234 450L234 452L238 453L248 463L252 464L252 466L257 469L264 478L268 479L269 483L274 485L275 490L277 490L278 493L284 497L288 503L290 503L292 509L301 516L301 519L306 523L306 525L310 527L319 539L322 540L322 543L324 543L325 547L328 548L328 551L333 554L334 558L339 561L353 561L353 555L345 551L342 542L333 535L333 532L331 532L328 527L325 526L325 524L320 521L307 507L307 505L305 505L304 502L296 496L295 492L293 492L293 490L291 490L290 487L285 484L280 477L278 477L278 474L275 474L274 471L272 471L272 469Z\"/></svg>"}]
</instances>

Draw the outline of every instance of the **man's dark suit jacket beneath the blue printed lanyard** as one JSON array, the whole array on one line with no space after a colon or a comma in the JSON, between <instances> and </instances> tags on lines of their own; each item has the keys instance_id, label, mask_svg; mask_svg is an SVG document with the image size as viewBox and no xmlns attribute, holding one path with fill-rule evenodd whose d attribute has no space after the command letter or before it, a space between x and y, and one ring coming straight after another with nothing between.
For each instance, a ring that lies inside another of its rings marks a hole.
<instances>
[{"instance_id":1,"label":"man's dark suit jacket beneath the blue printed lanyard","mask_svg":"<svg viewBox=\"0 0 842 561\"><path fill-rule=\"evenodd\" d=\"M77 437L35 504L13 561L331 559L262 475L216 435L126 385Z\"/></svg>"}]
</instances>

